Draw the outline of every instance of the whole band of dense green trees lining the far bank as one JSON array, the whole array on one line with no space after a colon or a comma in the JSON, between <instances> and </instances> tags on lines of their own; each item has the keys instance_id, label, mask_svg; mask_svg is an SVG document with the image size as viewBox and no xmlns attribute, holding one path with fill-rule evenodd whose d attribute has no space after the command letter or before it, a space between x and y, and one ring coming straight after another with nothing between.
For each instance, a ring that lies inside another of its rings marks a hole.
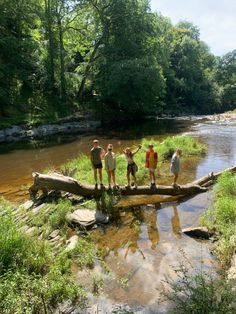
<instances>
[{"instance_id":1,"label":"whole band of dense green trees lining the far bank","mask_svg":"<svg viewBox=\"0 0 236 314\"><path fill-rule=\"evenodd\" d=\"M148 0L0 0L0 114L104 119L236 104L236 50L211 54Z\"/></svg>"}]
</instances>

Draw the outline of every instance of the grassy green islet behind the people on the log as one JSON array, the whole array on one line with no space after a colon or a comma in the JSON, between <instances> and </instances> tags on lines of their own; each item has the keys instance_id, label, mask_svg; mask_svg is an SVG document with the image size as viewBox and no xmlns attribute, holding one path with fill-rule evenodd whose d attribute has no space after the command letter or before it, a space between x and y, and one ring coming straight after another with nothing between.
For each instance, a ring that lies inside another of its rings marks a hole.
<instances>
[{"instance_id":1,"label":"grassy green islet behind the people on the log","mask_svg":"<svg viewBox=\"0 0 236 314\"><path fill-rule=\"evenodd\" d=\"M163 142L158 142L151 140L154 144L154 148L158 151L158 168L162 167L163 163L167 164L177 148L182 149L183 158L190 157L192 155L201 155L205 153L206 147L201 144L196 139L190 136L174 136L168 137ZM142 148L135 155L134 160L138 165L139 171L137 172L137 182L138 184L145 184L148 182L148 172L144 167L145 163L145 151L148 148L150 140L143 139L141 142ZM136 147L133 147L135 150ZM126 159L124 154L117 154L117 168L116 168L116 178L117 183L120 185L126 184ZM166 168L166 167L165 167ZM80 155L65 164L61 170L65 173L70 173L73 169L76 169L74 173L74 178L83 183L94 183L93 173L91 170L91 162L88 156ZM169 174L169 172L167 173ZM107 184L107 175L104 173L104 183Z\"/></svg>"}]
</instances>

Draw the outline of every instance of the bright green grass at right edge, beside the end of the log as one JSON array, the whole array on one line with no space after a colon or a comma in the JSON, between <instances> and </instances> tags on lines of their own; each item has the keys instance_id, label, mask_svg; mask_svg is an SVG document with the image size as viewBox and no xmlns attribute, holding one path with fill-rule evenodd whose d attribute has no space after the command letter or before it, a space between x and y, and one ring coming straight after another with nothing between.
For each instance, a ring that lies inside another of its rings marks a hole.
<instances>
[{"instance_id":1,"label":"bright green grass at right edge, beside the end of the log","mask_svg":"<svg viewBox=\"0 0 236 314\"><path fill-rule=\"evenodd\" d=\"M218 235L215 251L229 264L236 249L236 175L224 172L217 180L214 201L201 218L203 225Z\"/></svg>"}]
</instances>

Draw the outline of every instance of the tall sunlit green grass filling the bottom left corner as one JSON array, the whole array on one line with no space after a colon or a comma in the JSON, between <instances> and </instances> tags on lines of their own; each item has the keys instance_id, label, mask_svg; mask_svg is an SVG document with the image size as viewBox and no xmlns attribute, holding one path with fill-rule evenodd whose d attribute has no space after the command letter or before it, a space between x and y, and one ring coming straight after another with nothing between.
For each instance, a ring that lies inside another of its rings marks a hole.
<instances>
[{"instance_id":1,"label":"tall sunlit green grass filling the bottom left corner","mask_svg":"<svg viewBox=\"0 0 236 314\"><path fill-rule=\"evenodd\" d=\"M46 242L24 234L12 207L0 200L0 313L50 313L85 294L71 275L68 253L55 257Z\"/></svg>"}]
</instances>

